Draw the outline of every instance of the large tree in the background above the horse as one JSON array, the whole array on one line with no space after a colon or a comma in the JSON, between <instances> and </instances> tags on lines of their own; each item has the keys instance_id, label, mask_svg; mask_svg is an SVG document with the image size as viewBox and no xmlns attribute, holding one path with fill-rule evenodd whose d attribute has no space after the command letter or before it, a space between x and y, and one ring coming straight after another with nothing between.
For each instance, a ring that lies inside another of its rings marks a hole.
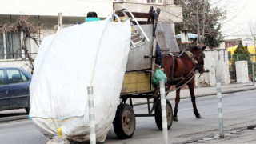
<instances>
[{"instance_id":1,"label":"large tree in the background above the horse","mask_svg":"<svg viewBox=\"0 0 256 144\"><path fill-rule=\"evenodd\" d=\"M175 0L183 7L183 23L179 30L189 29L198 35L198 45L218 46L222 41L221 21L226 18L226 10L211 6L210 0ZM177 29L176 29L177 30ZM177 31L179 31L177 30Z\"/></svg>"}]
</instances>

